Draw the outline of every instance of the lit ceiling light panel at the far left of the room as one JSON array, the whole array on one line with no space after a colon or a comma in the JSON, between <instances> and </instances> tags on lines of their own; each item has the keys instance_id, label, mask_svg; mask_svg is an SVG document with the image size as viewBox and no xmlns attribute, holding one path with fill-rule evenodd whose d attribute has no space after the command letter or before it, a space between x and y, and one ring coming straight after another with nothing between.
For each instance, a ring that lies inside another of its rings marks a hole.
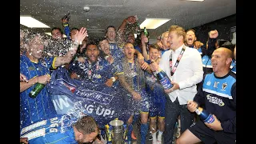
<instances>
[{"instance_id":1,"label":"lit ceiling light panel at the far left of the room","mask_svg":"<svg viewBox=\"0 0 256 144\"><path fill-rule=\"evenodd\" d=\"M20 16L20 24L30 28L50 28L50 26L46 26L46 24L39 22L30 16Z\"/></svg>"}]
</instances>

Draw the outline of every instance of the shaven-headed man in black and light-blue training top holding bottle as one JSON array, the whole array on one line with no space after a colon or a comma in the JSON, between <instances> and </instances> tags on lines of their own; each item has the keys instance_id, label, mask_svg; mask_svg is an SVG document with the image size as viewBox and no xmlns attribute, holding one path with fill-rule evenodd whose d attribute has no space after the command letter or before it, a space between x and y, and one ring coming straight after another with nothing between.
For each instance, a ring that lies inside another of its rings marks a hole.
<instances>
[{"instance_id":1,"label":"shaven-headed man in black and light-blue training top holding bottle","mask_svg":"<svg viewBox=\"0 0 256 144\"><path fill-rule=\"evenodd\" d=\"M196 122L177 139L177 144L236 142L236 74L230 70L232 58L233 53L227 48L214 50L211 58L214 72L206 74L193 101L187 103L190 112L204 105L213 114L214 122Z\"/></svg>"}]
</instances>

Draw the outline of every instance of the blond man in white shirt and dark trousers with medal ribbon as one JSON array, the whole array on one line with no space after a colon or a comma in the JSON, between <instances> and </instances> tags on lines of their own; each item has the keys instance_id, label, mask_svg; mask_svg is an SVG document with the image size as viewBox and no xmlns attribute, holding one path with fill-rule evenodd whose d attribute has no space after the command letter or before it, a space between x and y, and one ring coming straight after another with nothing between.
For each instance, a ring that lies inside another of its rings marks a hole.
<instances>
[{"instance_id":1,"label":"blond man in white shirt and dark trousers with medal ribbon","mask_svg":"<svg viewBox=\"0 0 256 144\"><path fill-rule=\"evenodd\" d=\"M197 93L196 84L202 81L202 58L198 50L190 49L184 45L186 31L181 26L170 26L167 42L170 50L161 58L159 66L156 62L150 64L152 71L163 70L174 85L165 92L166 98L166 123L164 142L171 144L174 135L174 126L181 116L181 132L184 132L194 121L194 113L186 108L188 100L193 99Z\"/></svg>"}]
</instances>

